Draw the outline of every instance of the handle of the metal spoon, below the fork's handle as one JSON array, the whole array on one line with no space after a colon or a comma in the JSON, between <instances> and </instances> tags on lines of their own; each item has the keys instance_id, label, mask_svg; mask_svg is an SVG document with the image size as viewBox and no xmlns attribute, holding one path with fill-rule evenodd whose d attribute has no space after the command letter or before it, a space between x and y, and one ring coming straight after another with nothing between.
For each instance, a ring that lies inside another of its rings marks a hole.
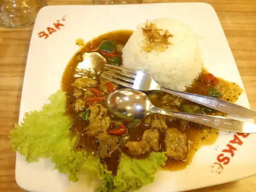
<instances>
[{"instance_id":1,"label":"handle of the metal spoon, below the fork's handle","mask_svg":"<svg viewBox=\"0 0 256 192\"><path fill-rule=\"evenodd\" d=\"M256 125L251 123L246 123L234 119L228 119L221 116L211 116L202 114L190 114L183 112L175 112L170 110L164 110L156 106L150 108L152 113L160 113L164 115L169 115L172 117L180 118L183 120L192 121L205 126L239 133L254 133L256 132Z\"/></svg>"}]
</instances>

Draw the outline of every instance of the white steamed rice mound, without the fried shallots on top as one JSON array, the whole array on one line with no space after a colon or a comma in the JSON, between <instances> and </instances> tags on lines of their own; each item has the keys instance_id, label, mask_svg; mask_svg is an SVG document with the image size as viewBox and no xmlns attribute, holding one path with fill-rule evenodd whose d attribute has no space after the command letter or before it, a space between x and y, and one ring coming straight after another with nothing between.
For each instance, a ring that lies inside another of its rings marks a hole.
<instances>
[{"instance_id":1,"label":"white steamed rice mound, without the fried shallots on top","mask_svg":"<svg viewBox=\"0 0 256 192\"><path fill-rule=\"evenodd\" d=\"M185 24L169 18L158 18L150 22L158 29L173 34L169 38L172 44L164 52L144 51L142 27L139 24L125 44L122 54L123 64L127 68L142 70L158 84L166 88L184 91L202 71L202 56L196 34Z\"/></svg>"}]
</instances>

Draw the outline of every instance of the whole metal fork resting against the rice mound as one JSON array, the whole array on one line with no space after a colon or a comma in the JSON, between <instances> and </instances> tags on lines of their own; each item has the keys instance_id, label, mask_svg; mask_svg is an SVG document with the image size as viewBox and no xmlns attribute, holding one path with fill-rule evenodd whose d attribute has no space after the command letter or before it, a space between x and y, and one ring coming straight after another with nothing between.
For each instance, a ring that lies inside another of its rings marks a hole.
<instances>
[{"instance_id":1,"label":"whole metal fork resting against the rice mound","mask_svg":"<svg viewBox=\"0 0 256 192\"><path fill-rule=\"evenodd\" d=\"M152 77L142 71L109 64L105 64L105 69L108 71L102 72L101 76L103 78L132 89L140 91L160 90L230 115L245 118L256 117L255 111L236 105L234 103L208 96L164 88L156 83ZM111 73L110 71L114 73Z\"/></svg>"}]
</instances>

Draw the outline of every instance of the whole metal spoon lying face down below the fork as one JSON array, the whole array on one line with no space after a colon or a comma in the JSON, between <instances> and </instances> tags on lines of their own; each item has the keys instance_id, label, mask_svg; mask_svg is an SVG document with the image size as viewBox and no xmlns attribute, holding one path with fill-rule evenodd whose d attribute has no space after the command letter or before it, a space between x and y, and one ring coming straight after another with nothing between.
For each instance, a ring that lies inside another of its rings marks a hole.
<instances>
[{"instance_id":1,"label":"whole metal spoon lying face down below the fork","mask_svg":"<svg viewBox=\"0 0 256 192\"><path fill-rule=\"evenodd\" d=\"M142 119L151 113L160 113L225 131L256 132L256 125L251 123L221 116L190 114L158 108L150 102L146 94L133 89L120 89L110 93L106 98L106 106L112 114L129 120Z\"/></svg>"}]
</instances>

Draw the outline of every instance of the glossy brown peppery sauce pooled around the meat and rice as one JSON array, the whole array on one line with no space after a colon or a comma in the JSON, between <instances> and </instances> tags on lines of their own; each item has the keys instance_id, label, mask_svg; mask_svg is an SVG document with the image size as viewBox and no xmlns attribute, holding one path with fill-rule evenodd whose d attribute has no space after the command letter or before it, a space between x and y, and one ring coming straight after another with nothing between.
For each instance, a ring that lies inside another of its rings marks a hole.
<instances>
[{"instance_id":1,"label":"glossy brown peppery sauce pooled around the meat and rice","mask_svg":"<svg viewBox=\"0 0 256 192\"><path fill-rule=\"evenodd\" d=\"M103 40L113 40L114 42L118 44L125 44L128 39L130 38L132 34L132 31L130 30L118 30L114 32L110 32L107 34L103 34L90 42L87 42L84 44L82 40L77 40L76 44L79 46L82 46L82 48L73 56L73 58L70 60L68 65L66 66L66 70L64 71L64 74L62 76L62 90L67 92L67 102L66 102L66 112L72 118L73 124L71 129L71 132L73 135L78 135L78 142L76 144L77 150L86 150L89 153L97 153L98 150L98 142L95 137L88 137L86 135L86 132L84 131L84 128L88 125L88 123L84 120L82 120L77 112L74 110L74 102L75 98L73 97L74 94L74 87L71 85L72 82L74 82L75 77L75 70L78 66L79 62L82 61L82 56L86 52L92 52L97 50L98 46L102 43ZM188 88L186 91L190 93L200 94L200 95L207 95L209 89L212 87L211 84L206 85L203 81L204 74L208 73L206 70L203 70L202 74L194 81L192 86ZM228 100L229 102L236 102L239 95L242 93L242 89L235 83L227 82L221 78L218 78L219 80L219 88L220 92L222 93L222 96L224 100ZM120 87L121 88L121 87ZM149 94L149 93L148 93ZM158 97L152 103L158 107L161 106L162 103L162 97ZM192 104L192 102L188 100L184 100L182 104ZM179 107L177 107L178 110L180 110ZM215 115L222 115L225 116L225 114L220 112L213 112L211 114ZM109 114L111 115L111 114ZM154 115L154 114L153 114ZM124 125L127 125L124 123ZM187 126L182 126L182 123L180 120L172 121L167 123L168 128L175 127L180 132L186 133L186 136L188 137L188 154L187 158L185 160L172 160L168 158L166 165L164 166L164 169L167 170L181 170L186 168L190 162L192 161L193 156L195 155L196 151L200 149L201 146L204 145L211 145L216 142L219 131L214 128L209 128L206 126L201 126L199 124L195 124L190 122ZM139 141L142 138L142 134L144 130L146 130L148 127L144 125L144 121L136 127L136 128L128 128L128 133L130 134L130 140L133 141ZM159 140L159 146L160 146L160 152L164 151L164 138L165 135L161 132L160 133L160 140ZM71 135L72 136L72 135ZM126 152L129 155L129 152L126 148L124 148L122 145L119 146L120 150L122 152ZM142 156L136 157L136 158L145 158L148 154L144 154ZM105 163L108 170L113 171L113 174L116 174L116 170L118 167L120 157L120 151L115 150L112 152L110 158L106 158L102 163Z\"/></svg>"}]
</instances>

